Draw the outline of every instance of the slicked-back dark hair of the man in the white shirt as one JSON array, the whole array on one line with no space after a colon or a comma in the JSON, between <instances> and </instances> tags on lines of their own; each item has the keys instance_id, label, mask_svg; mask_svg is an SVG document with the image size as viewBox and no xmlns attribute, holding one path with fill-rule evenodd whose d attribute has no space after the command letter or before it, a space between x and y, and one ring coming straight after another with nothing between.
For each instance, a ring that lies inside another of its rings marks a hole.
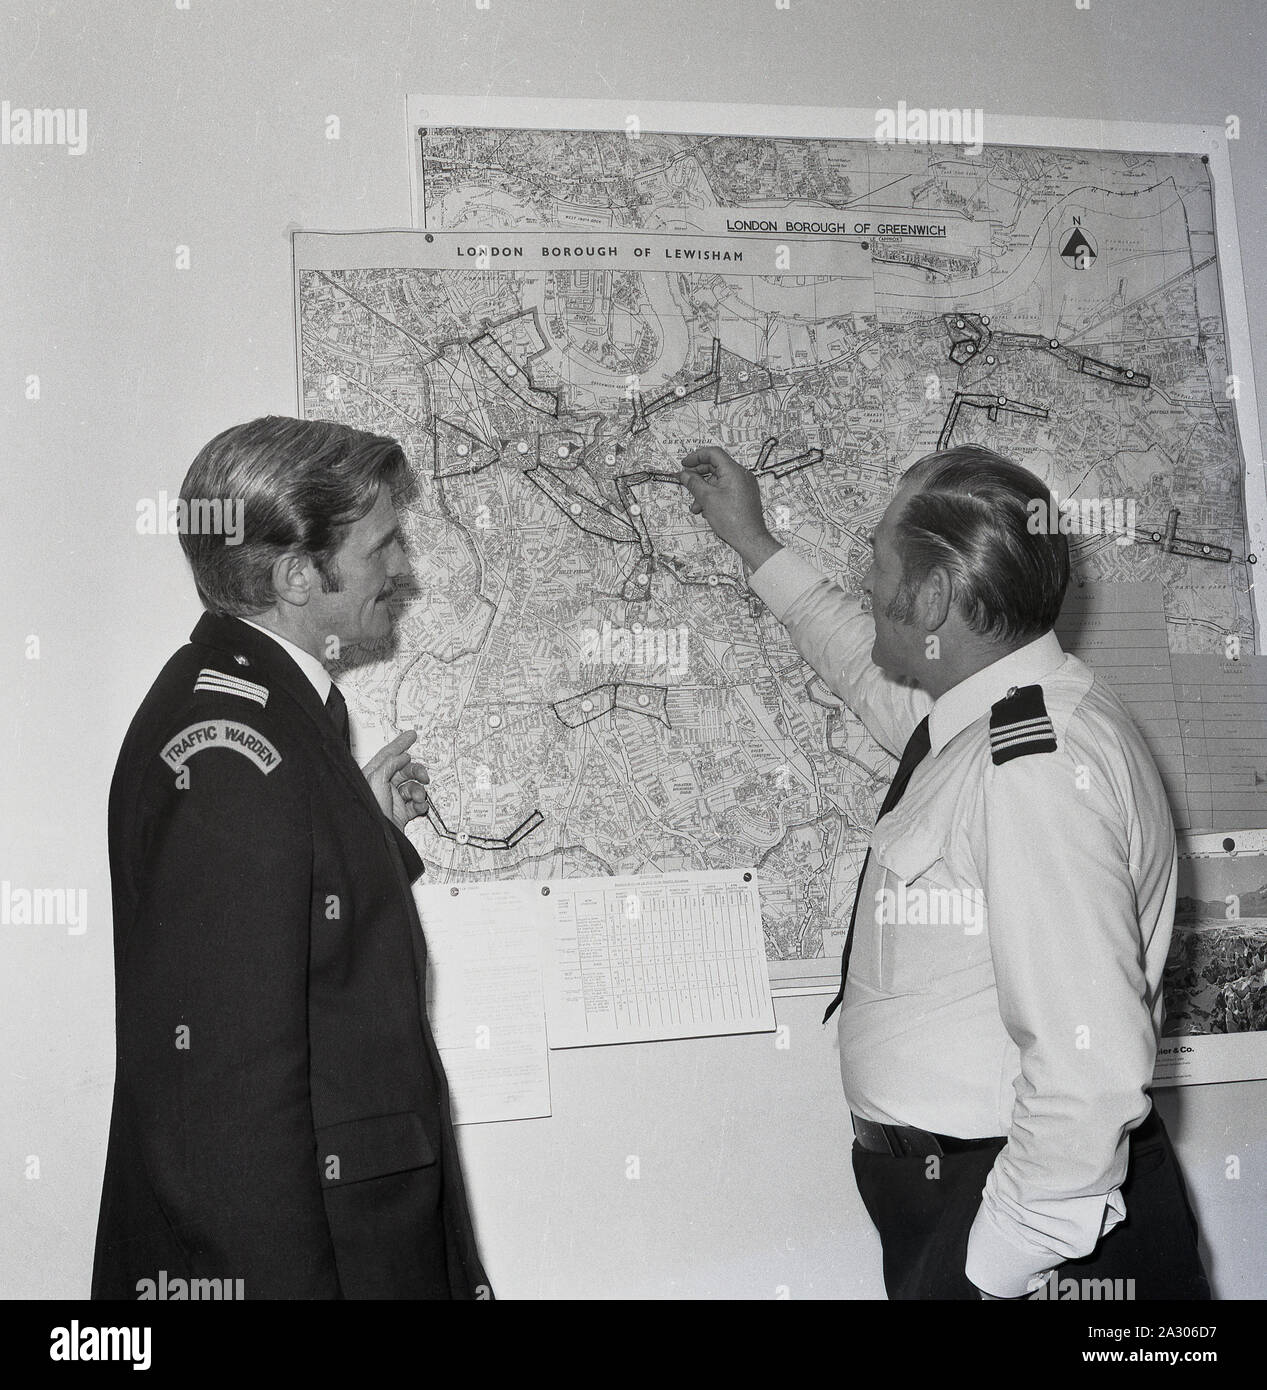
<instances>
[{"instance_id":1,"label":"slicked-back dark hair of the man in the white shirt","mask_svg":"<svg viewBox=\"0 0 1267 1390\"><path fill-rule=\"evenodd\" d=\"M966 443L913 463L914 491L895 521L902 584L891 617L910 617L935 566L950 574L952 600L968 630L993 641L1032 641L1049 631L1068 587L1068 538L1031 534L1028 505L1050 492L1028 468Z\"/></svg>"}]
</instances>

